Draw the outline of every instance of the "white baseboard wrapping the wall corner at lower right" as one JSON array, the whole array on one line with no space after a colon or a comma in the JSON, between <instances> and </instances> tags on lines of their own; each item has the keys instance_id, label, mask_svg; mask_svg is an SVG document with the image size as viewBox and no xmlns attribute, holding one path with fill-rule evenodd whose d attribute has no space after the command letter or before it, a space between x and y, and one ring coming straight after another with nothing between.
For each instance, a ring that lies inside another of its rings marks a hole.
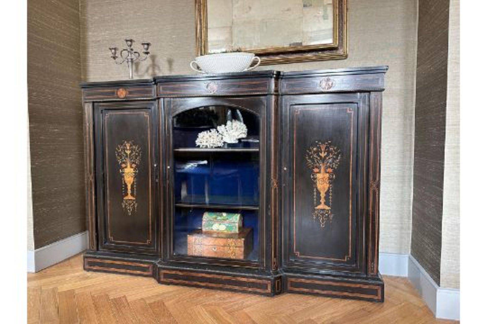
<instances>
[{"instance_id":1,"label":"white baseboard wrapping the wall corner at lower right","mask_svg":"<svg viewBox=\"0 0 487 324\"><path fill-rule=\"evenodd\" d=\"M459 289L439 287L413 256L409 256L408 278L436 318L460 320Z\"/></svg>"}]
</instances>

